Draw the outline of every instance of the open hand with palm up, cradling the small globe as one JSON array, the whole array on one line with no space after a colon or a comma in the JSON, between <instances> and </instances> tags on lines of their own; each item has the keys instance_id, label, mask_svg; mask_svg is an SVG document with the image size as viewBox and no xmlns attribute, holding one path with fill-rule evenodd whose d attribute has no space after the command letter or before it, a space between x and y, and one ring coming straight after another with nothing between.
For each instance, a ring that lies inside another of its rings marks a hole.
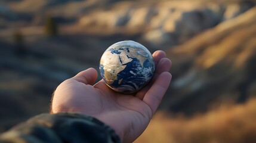
<instances>
[{"instance_id":1,"label":"open hand with palm up, cradling the small globe","mask_svg":"<svg viewBox=\"0 0 256 143\"><path fill-rule=\"evenodd\" d=\"M79 112L95 117L112 127L122 142L132 142L146 129L161 103L169 83L171 61L165 52L153 53L156 71L149 85L136 94L121 94L97 79L95 69L81 71L55 90L52 113Z\"/></svg>"}]
</instances>

